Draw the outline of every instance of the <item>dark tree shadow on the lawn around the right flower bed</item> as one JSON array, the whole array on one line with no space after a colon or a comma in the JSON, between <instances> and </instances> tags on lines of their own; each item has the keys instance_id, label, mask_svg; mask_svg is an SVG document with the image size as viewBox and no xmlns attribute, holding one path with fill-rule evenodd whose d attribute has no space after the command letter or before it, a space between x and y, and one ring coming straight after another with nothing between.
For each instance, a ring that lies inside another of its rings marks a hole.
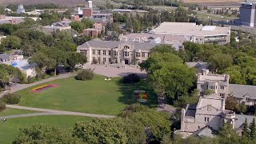
<instances>
[{"instance_id":1,"label":"dark tree shadow on the lawn around the right flower bed","mask_svg":"<svg viewBox=\"0 0 256 144\"><path fill-rule=\"evenodd\" d=\"M122 78L117 81L119 86L119 91L122 93L122 97L118 98L118 102L122 102L126 105L131 105L137 103L136 98L134 97L134 90L145 90L148 96L148 100L143 105L149 106L150 108L156 107L158 105L157 95L154 94L154 90L150 89L148 81L144 78L141 79L141 82L138 83L123 83Z\"/></svg>"}]
</instances>

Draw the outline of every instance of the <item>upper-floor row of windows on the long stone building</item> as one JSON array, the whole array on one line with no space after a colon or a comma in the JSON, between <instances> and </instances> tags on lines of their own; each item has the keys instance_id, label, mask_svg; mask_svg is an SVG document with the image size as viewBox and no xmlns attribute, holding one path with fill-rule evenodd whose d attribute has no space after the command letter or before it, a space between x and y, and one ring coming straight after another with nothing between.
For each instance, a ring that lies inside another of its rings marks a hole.
<instances>
[{"instance_id":1,"label":"upper-floor row of windows on the long stone building","mask_svg":"<svg viewBox=\"0 0 256 144\"><path fill-rule=\"evenodd\" d=\"M101 54L101 50L97 50L98 55ZM87 50L80 50L80 54L87 54ZM93 54L96 54L96 50L93 50ZM106 55L106 50L103 50L103 55ZM113 54L111 54L111 51L109 50L109 54L108 55L113 55L113 56L118 56L118 51L113 51ZM129 57L130 53L128 51L124 52L124 56L125 57ZM145 58L146 53L142 53L142 58ZM136 57L141 57L141 53L135 53ZM150 56L150 54L148 54L148 56Z\"/></svg>"}]
</instances>

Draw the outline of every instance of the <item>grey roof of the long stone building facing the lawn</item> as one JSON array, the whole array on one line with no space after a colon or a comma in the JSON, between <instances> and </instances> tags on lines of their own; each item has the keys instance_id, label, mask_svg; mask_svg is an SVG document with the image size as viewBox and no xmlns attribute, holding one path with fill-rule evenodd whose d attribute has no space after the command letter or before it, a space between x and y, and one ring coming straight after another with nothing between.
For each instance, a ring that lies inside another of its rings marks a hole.
<instances>
[{"instance_id":1,"label":"grey roof of the long stone building facing the lawn","mask_svg":"<svg viewBox=\"0 0 256 144\"><path fill-rule=\"evenodd\" d=\"M90 47L117 48L122 43L125 43L125 42L102 41L99 38L95 38L93 40L83 43L81 46L78 46L78 48L90 48ZM128 43L134 45L134 48L140 49L140 50L150 50L154 46L158 45L158 44L154 44L154 43L140 43L140 42L128 42Z\"/></svg>"}]
</instances>

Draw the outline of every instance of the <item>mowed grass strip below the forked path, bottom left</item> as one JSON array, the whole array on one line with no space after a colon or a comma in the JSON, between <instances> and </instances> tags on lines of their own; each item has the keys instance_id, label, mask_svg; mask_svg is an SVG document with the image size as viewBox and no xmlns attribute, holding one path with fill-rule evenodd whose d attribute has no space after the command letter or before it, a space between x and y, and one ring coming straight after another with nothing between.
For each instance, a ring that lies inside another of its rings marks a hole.
<instances>
[{"instance_id":1,"label":"mowed grass strip below the forked path, bottom left","mask_svg":"<svg viewBox=\"0 0 256 144\"><path fill-rule=\"evenodd\" d=\"M0 122L0 143L6 144L14 141L20 128L27 128L35 124L49 124L62 129L73 128L75 122L89 121L91 118L72 115L50 115L26 118L9 118L6 122Z\"/></svg>"}]
</instances>

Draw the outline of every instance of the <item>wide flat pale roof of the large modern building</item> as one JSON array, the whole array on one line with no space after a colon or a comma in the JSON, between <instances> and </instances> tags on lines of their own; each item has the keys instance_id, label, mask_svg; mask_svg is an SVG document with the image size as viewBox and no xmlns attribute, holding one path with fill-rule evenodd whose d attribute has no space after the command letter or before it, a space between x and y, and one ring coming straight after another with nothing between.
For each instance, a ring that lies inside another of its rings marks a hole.
<instances>
[{"instance_id":1,"label":"wide flat pale roof of the large modern building","mask_svg":"<svg viewBox=\"0 0 256 144\"><path fill-rule=\"evenodd\" d=\"M151 34L213 36L230 34L230 27L198 26L192 22L163 22Z\"/></svg>"}]
</instances>

